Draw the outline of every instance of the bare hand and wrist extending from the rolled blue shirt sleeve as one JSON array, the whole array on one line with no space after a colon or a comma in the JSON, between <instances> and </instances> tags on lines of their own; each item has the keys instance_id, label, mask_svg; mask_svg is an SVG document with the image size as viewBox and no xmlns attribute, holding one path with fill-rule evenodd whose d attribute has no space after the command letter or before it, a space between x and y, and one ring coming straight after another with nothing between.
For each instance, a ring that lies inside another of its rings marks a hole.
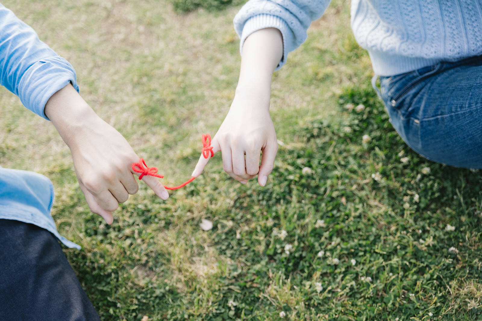
<instances>
[{"instance_id":1,"label":"bare hand and wrist extending from the rolled blue shirt sleeve","mask_svg":"<svg viewBox=\"0 0 482 321\"><path fill-rule=\"evenodd\" d=\"M139 188L134 176L139 173L132 169L139 157L70 84L49 99L44 112L70 148L80 189L91 212L111 224L112 212ZM146 175L142 180L167 200L169 194L156 177Z\"/></svg>"}]
</instances>

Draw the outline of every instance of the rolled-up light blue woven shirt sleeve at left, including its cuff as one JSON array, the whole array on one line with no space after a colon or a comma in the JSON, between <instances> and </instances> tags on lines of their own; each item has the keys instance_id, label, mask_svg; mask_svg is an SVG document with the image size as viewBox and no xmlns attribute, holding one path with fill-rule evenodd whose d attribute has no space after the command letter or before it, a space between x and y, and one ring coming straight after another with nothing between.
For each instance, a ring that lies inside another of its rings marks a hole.
<instances>
[{"instance_id":1,"label":"rolled-up light blue woven shirt sleeve at left, including its cuff","mask_svg":"<svg viewBox=\"0 0 482 321\"><path fill-rule=\"evenodd\" d=\"M69 83L79 91L70 63L0 4L0 84L16 94L25 107L48 120L43 111L47 100Z\"/></svg>"}]
</instances>

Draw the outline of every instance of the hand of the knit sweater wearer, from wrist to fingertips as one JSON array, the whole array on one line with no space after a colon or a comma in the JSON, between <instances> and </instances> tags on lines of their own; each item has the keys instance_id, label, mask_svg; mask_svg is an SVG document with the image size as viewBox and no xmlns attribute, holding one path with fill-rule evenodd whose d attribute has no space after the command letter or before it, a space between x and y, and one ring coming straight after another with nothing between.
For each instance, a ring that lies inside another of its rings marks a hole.
<instances>
[{"instance_id":1,"label":"hand of the knit sweater wearer, from wrist to fingertips","mask_svg":"<svg viewBox=\"0 0 482 321\"><path fill-rule=\"evenodd\" d=\"M259 185L265 186L278 151L273 121L269 116L269 93L241 92L237 91L211 146L214 153L221 151L223 168L232 178L246 184L247 180L258 175ZM201 174L208 161L209 158L201 155L192 176Z\"/></svg>"}]
</instances>

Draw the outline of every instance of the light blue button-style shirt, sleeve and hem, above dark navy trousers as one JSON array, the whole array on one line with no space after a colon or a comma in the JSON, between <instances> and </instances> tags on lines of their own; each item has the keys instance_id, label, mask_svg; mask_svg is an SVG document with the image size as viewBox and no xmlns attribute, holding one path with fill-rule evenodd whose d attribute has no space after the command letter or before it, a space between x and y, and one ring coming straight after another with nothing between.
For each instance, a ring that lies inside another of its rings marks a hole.
<instances>
[{"instance_id":1,"label":"light blue button-style shirt, sleeve and hem, above dark navy trousers","mask_svg":"<svg viewBox=\"0 0 482 321\"><path fill-rule=\"evenodd\" d=\"M25 107L48 119L47 100L71 83L79 91L74 68L39 40L35 31L0 4L0 84ZM37 173L0 167L0 219L35 224L71 248L80 246L60 236L50 209L54 188Z\"/></svg>"}]
</instances>

